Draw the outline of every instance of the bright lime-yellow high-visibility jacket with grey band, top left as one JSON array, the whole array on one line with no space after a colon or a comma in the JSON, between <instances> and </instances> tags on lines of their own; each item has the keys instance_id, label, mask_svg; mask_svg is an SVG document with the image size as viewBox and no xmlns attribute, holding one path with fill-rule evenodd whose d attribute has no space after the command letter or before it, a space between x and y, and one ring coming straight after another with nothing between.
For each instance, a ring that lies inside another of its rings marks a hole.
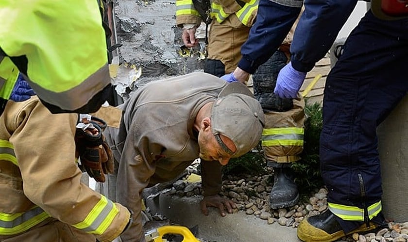
<instances>
[{"instance_id":1,"label":"bright lime-yellow high-visibility jacket with grey band, top left","mask_svg":"<svg viewBox=\"0 0 408 242\"><path fill-rule=\"evenodd\" d=\"M96 0L1 0L0 18L0 90L18 68L52 112L99 109L111 84Z\"/></svg>"}]
</instances>

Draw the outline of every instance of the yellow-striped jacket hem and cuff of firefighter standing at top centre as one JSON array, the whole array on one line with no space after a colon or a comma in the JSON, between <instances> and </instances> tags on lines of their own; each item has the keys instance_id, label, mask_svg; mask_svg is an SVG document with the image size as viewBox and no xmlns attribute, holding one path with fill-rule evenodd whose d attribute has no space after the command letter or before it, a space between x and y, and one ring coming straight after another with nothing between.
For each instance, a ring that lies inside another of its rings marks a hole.
<instances>
[{"instance_id":1,"label":"yellow-striped jacket hem and cuff of firefighter standing at top centre","mask_svg":"<svg viewBox=\"0 0 408 242\"><path fill-rule=\"evenodd\" d=\"M258 2L259 0L211 0L210 15L222 23L229 15L234 14L243 25L250 27L255 22ZM180 27L186 23L200 25L201 17L192 0L176 0L176 23Z\"/></svg>"}]
</instances>

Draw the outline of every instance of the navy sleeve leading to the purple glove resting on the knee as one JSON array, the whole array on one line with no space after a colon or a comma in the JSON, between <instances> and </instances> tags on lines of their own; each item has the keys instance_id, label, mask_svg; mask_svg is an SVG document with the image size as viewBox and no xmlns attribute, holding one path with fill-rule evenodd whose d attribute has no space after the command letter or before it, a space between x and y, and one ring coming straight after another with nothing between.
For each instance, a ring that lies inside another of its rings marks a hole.
<instances>
[{"instance_id":1,"label":"navy sleeve leading to the purple glove resting on the knee","mask_svg":"<svg viewBox=\"0 0 408 242\"><path fill-rule=\"evenodd\" d=\"M309 72L326 55L357 0L305 0L290 53L295 70Z\"/></svg>"}]
</instances>

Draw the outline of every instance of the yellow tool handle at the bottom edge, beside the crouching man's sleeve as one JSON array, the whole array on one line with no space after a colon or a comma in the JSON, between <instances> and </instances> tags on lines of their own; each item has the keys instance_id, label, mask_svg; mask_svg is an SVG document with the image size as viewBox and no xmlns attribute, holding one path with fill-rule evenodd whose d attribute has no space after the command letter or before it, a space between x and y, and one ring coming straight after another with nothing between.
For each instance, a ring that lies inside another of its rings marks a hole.
<instances>
[{"instance_id":1,"label":"yellow tool handle at the bottom edge, beside the crouching man's sleeve","mask_svg":"<svg viewBox=\"0 0 408 242\"><path fill-rule=\"evenodd\" d=\"M146 233L145 239L147 242L166 242L166 239L163 239L165 234L179 234L183 236L182 242L200 242L187 227L167 225L158 227Z\"/></svg>"}]
</instances>

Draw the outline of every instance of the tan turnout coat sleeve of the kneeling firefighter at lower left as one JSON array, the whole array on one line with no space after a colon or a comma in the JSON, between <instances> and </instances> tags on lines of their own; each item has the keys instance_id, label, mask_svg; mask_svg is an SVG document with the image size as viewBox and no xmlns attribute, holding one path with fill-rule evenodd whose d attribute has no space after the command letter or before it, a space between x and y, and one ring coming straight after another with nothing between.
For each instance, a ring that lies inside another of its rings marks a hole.
<instances>
[{"instance_id":1,"label":"tan turnout coat sleeve of the kneeling firefighter at lower left","mask_svg":"<svg viewBox=\"0 0 408 242\"><path fill-rule=\"evenodd\" d=\"M23 179L25 195L58 220L75 225L84 221L101 195L81 183L81 171L75 163L75 124L77 114L54 114L33 97L14 103L18 110L10 120L14 145ZM5 110L7 112L7 110ZM116 204L118 214L98 236L101 241L119 236L130 213Z\"/></svg>"}]
</instances>

